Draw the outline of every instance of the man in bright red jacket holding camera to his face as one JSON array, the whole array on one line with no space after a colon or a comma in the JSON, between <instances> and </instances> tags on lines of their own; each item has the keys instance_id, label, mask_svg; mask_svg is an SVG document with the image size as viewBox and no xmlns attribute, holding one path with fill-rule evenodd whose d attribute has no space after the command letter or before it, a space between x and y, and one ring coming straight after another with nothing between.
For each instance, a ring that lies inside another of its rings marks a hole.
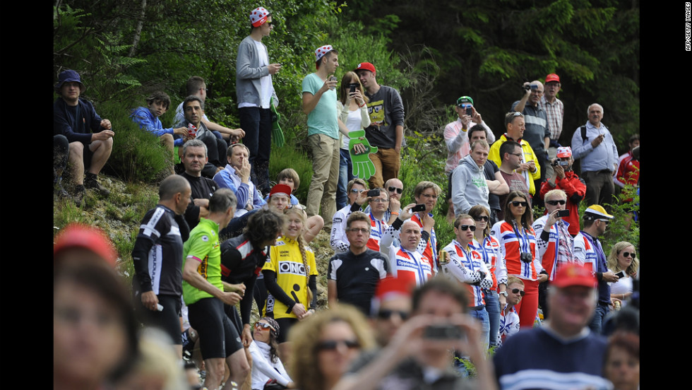
<instances>
[{"instance_id":1,"label":"man in bright red jacket holding camera to his face","mask_svg":"<svg viewBox=\"0 0 692 390\"><path fill-rule=\"evenodd\" d=\"M572 148L561 146L557 148L556 154L556 158L550 162L553 165L553 174L541 184L539 194L544 199L545 195L553 189L565 191L567 196L565 208L569 210L569 215L563 219L569 223L569 234L575 237L579 232L579 202L586 195L586 183L572 170L574 162Z\"/></svg>"}]
</instances>

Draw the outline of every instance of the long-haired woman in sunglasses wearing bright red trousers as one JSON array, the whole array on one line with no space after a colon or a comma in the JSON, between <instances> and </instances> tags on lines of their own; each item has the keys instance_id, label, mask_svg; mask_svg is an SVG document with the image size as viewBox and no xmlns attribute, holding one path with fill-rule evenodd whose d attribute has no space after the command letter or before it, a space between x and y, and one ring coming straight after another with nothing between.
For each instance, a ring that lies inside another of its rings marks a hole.
<instances>
[{"instance_id":1,"label":"long-haired woman in sunglasses wearing bright red trousers","mask_svg":"<svg viewBox=\"0 0 692 390\"><path fill-rule=\"evenodd\" d=\"M503 205L505 219L493 225L491 230L491 235L500 242L507 275L524 282L524 297L515 305L521 328L533 327L538 312L538 285L548 280L536 258L536 233L531 228L533 215L530 204L522 191L511 191Z\"/></svg>"}]
</instances>

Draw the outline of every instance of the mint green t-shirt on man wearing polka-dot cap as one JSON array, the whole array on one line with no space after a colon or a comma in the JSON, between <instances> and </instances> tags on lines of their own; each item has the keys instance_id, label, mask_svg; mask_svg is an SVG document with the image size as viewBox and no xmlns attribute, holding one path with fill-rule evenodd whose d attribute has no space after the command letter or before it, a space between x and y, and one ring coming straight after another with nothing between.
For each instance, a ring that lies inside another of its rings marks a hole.
<instances>
[{"instance_id":1,"label":"mint green t-shirt on man wearing polka-dot cap","mask_svg":"<svg viewBox=\"0 0 692 390\"><path fill-rule=\"evenodd\" d=\"M316 95L322 85L324 85L324 81L320 76L317 76L317 73L310 73L303 79L303 92ZM323 93L314 110L308 114L308 136L313 134L324 134L339 139L335 89Z\"/></svg>"}]
</instances>

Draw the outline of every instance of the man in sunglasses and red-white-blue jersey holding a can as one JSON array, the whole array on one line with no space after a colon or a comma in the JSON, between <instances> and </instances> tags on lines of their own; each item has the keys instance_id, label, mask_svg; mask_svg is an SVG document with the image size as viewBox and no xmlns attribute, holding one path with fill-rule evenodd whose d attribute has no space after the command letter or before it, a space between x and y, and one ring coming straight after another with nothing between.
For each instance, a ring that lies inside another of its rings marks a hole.
<instances>
[{"instance_id":1,"label":"man in sunglasses and red-white-blue jersey holding a can","mask_svg":"<svg viewBox=\"0 0 692 390\"><path fill-rule=\"evenodd\" d=\"M490 345L490 317L485 309L482 289L491 288L493 278L482 256L469 245L473 242L475 231L476 224L471 215L460 214L457 217L454 221L456 240L442 249L449 255L449 261L442 265L442 269L446 276L462 282L466 288L470 297L468 308L471 317L482 324L481 341L487 348Z\"/></svg>"}]
</instances>

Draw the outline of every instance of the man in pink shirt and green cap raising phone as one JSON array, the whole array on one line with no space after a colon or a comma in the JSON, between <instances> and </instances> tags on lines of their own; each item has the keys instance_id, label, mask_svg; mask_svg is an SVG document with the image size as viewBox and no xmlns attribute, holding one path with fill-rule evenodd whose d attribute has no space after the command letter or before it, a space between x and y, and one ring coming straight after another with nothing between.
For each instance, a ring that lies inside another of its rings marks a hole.
<instances>
[{"instance_id":1,"label":"man in pink shirt and green cap raising phone","mask_svg":"<svg viewBox=\"0 0 692 390\"><path fill-rule=\"evenodd\" d=\"M467 110L471 110L472 114L467 115ZM471 143L468 134L471 128L471 122L482 124L487 131L487 141L489 144L495 142L495 135L490 130L487 124L483 122L481 114L473 107L473 99L470 96L462 96L457 99L454 111L458 115L458 119L448 123L445 126L444 137L447 144L447 164L445 165L445 173L451 175L461 159L469 155L471 151Z\"/></svg>"}]
</instances>

